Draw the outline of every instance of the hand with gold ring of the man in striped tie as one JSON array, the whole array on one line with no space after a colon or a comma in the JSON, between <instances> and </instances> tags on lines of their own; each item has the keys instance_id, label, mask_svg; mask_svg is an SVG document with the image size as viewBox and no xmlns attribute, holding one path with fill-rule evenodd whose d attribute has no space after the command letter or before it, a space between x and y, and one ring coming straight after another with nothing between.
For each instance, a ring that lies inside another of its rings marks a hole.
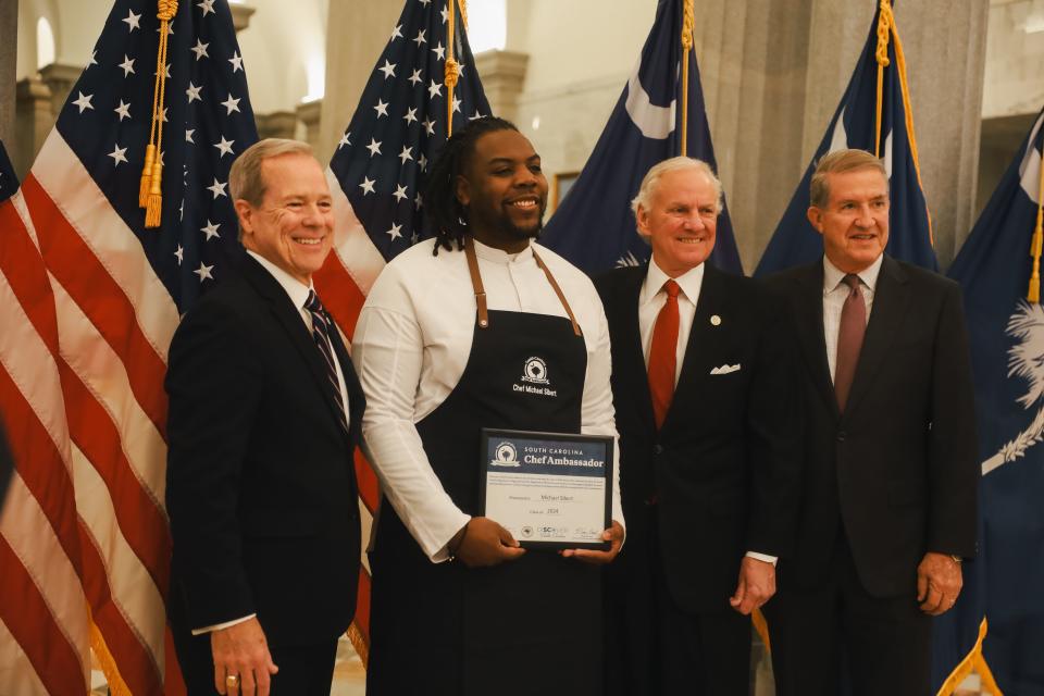
<instances>
[{"instance_id":1,"label":"hand with gold ring of the man in striped tie","mask_svg":"<svg viewBox=\"0 0 1044 696\"><path fill-rule=\"evenodd\" d=\"M214 686L219 694L269 696L271 676L279 668L272 662L257 617L211 633L210 650L214 656ZM231 675L239 678L237 686L226 681Z\"/></svg>"}]
</instances>

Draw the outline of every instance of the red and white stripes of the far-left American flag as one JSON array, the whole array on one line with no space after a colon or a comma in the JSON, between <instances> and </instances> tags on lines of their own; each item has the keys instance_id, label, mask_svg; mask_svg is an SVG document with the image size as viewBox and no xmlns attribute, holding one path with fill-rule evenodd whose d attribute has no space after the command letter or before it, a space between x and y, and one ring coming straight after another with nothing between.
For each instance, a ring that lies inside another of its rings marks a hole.
<instances>
[{"instance_id":1,"label":"red and white stripes of the far-left American flag","mask_svg":"<svg viewBox=\"0 0 1044 696\"><path fill-rule=\"evenodd\" d=\"M0 217L0 684L85 693L92 622L129 693L184 693L163 606L177 308L57 129Z\"/></svg>"}]
</instances>

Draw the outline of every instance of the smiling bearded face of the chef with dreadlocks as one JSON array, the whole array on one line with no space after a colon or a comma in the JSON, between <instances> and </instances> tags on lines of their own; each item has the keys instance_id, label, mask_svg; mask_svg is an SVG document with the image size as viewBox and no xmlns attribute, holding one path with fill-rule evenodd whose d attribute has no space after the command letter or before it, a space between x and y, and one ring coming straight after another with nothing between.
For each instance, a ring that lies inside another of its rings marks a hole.
<instances>
[{"instance_id":1,"label":"smiling bearded face of the chef with dreadlocks","mask_svg":"<svg viewBox=\"0 0 1044 696\"><path fill-rule=\"evenodd\" d=\"M547 179L540 156L525 136L511 129L483 135L465 171L457 177L456 190L475 239L514 252L539 235Z\"/></svg>"}]
</instances>

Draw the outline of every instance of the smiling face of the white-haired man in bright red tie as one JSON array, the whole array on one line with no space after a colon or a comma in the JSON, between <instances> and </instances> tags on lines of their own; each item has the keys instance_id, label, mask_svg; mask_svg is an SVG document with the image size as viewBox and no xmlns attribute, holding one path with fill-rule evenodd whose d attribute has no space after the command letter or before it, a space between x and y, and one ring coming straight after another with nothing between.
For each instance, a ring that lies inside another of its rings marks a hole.
<instances>
[{"instance_id":1,"label":"smiling face of the white-haired man in bright red tie","mask_svg":"<svg viewBox=\"0 0 1044 696\"><path fill-rule=\"evenodd\" d=\"M700 171L668 172L657 182L648 208L638 206L636 216L656 265L678 277L706 261L714 249L718 192Z\"/></svg>"}]
</instances>

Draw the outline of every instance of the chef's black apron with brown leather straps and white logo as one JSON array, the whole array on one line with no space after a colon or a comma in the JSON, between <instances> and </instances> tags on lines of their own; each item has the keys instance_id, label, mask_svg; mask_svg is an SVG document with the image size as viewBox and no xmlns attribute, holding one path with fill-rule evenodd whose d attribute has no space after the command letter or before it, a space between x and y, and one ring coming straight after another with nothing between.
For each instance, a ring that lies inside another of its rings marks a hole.
<instances>
[{"instance_id":1,"label":"chef's black apron with brown leather straps and white logo","mask_svg":"<svg viewBox=\"0 0 1044 696\"><path fill-rule=\"evenodd\" d=\"M570 319L486 312L473 248L467 252L480 306L471 353L456 388L417 430L453 502L478 515L481 428L579 433L587 350L539 259ZM555 396L518 388L534 358ZM602 693L597 567L536 549L494 568L432 563L386 501L370 558L369 695Z\"/></svg>"}]
</instances>

